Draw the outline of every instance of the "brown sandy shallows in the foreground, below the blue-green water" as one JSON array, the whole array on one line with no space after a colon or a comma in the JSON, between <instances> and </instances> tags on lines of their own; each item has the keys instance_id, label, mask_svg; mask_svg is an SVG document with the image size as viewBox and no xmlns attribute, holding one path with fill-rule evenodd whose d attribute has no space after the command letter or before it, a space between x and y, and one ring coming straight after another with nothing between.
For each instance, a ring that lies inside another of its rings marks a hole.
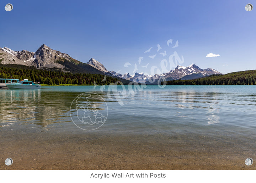
<instances>
[{"instance_id":1,"label":"brown sandy shallows in the foreground, below the blue-green water","mask_svg":"<svg viewBox=\"0 0 256 183\"><path fill-rule=\"evenodd\" d=\"M0 161L14 160L1 170L256 170L244 163L254 151L230 139L49 131L20 137L1 137Z\"/></svg>"}]
</instances>

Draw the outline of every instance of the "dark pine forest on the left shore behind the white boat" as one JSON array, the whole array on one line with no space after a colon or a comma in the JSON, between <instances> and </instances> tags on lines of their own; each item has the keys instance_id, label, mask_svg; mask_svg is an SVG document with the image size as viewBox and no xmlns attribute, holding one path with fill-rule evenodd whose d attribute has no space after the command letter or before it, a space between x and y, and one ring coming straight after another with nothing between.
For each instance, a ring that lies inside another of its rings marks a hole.
<instances>
[{"instance_id":1,"label":"dark pine forest on the left shore behind the white boat","mask_svg":"<svg viewBox=\"0 0 256 183\"><path fill-rule=\"evenodd\" d=\"M116 78L101 74L74 74L71 72L41 70L25 65L0 64L0 78L28 79L47 85L75 84L75 85L109 85L118 81ZM102 81L103 80L103 81Z\"/></svg>"}]
</instances>

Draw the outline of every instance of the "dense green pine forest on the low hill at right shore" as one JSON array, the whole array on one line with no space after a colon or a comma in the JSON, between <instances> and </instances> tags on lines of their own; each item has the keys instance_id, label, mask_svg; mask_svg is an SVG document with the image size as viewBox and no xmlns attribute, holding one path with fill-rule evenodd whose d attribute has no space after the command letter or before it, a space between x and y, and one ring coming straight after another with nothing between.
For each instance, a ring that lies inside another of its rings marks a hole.
<instances>
[{"instance_id":1,"label":"dense green pine forest on the low hill at right shore","mask_svg":"<svg viewBox=\"0 0 256 183\"><path fill-rule=\"evenodd\" d=\"M163 82L161 82L161 85ZM167 81L166 85L255 85L256 70L247 70L223 75L210 75L191 80Z\"/></svg>"}]
</instances>

